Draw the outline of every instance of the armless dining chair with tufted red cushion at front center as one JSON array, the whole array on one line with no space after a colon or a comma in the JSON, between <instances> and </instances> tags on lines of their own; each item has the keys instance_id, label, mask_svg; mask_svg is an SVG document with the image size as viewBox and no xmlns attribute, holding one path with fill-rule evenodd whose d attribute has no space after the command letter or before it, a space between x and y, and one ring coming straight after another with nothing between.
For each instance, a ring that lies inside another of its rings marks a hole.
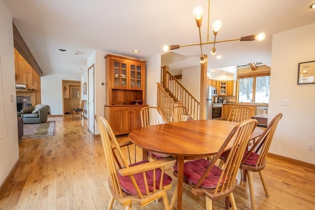
<instances>
[{"instance_id":1,"label":"armless dining chair with tufted red cushion at front center","mask_svg":"<svg viewBox=\"0 0 315 210\"><path fill-rule=\"evenodd\" d=\"M184 163L184 182L190 187L195 196L205 196L206 209L212 209L212 201L225 197L226 205L229 198L231 207L236 210L233 190L236 186L236 175L241 160L247 148L252 131L257 125L257 120L249 119L238 123L227 136L220 150L212 161L198 159ZM228 145L233 144L229 149L226 162L223 168L216 166L221 153ZM173 174L177 177L177 166ZM171 200L171 208L176 200L177 193L174 192Z\"/></svg>"}]
</instances>

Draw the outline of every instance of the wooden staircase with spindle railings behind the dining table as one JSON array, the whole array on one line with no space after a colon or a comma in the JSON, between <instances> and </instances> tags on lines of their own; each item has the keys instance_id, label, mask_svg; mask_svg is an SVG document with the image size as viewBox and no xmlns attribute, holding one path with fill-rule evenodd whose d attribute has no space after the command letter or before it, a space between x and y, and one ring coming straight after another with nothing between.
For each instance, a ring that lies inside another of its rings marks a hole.
<instances>
[{"instance_id":1,"label":"wooden staircase with spindle railings behind the dining table","mask_svg":"<svg viewBox=\"0 0 315 210\"><path fill-rule=\"evenodd\" d=\"M172 108L185 106L194 120L199 120L200 103L191 93L168 71L168 66L161 68L162 83L158 83L157 106L164 117L172 122Z\"/></svg>"}]
</instances>

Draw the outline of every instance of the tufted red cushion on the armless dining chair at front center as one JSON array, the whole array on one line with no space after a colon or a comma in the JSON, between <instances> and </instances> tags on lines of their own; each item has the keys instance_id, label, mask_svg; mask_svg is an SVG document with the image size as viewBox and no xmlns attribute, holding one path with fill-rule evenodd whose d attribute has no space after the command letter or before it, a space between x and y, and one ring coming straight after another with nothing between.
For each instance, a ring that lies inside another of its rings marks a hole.
<instances>
[{"instance_id":1,"label":"tufted red cushion on the armless dining chair at front center","mask_svg":"<svg viewBox=\"0 0 315 210\"><path fill-rule=\"evenodd\" d=\"M184 163L184 177L190 182L197 184L200 180L203 173L206 171L207 167L210 165L210 162L206 159L193 160ZM178 166L174 167L174 170L177 172ZM214 165L208 176L201 183L203 188L215 188L221 176L222 170ZM222 181L220 185L222 184Z\"/></svg>"}]
</instances>

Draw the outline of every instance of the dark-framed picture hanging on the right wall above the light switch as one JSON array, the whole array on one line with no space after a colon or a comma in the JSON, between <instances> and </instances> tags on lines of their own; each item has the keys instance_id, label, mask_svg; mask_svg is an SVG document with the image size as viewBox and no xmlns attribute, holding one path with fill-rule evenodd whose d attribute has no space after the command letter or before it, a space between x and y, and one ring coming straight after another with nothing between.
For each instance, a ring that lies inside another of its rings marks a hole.
<instances>
[{"instance_id":1,"label":"dark-framed picture hanging on the right wall above the light switch","mask_svg":"<svg viewBox=\"0 0 315 210\"><path fill-rule=\"evenodd\" d=\"M299 63L297 84L315 83L315 60Z\"/></svg>"}]
</instances>

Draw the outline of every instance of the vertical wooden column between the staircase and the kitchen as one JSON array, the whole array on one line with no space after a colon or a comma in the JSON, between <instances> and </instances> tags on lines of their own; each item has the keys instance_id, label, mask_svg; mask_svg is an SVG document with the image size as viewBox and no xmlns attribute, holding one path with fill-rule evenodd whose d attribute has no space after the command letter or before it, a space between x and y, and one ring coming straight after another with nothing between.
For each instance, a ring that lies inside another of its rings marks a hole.
<instances>
[{"instance_id":1,"label":"vertical wooden column between the staircase and the kitchen","mask_svg":"<svg viewBox=\"0 0 315 210\"><path fill-rule=\"evenodd\" d=\"M199 119L206 119L206 98L207 98L207 67L208 56L204 55L206 62L200 65L200 112Z\"/></svg>"}]
</instances>

